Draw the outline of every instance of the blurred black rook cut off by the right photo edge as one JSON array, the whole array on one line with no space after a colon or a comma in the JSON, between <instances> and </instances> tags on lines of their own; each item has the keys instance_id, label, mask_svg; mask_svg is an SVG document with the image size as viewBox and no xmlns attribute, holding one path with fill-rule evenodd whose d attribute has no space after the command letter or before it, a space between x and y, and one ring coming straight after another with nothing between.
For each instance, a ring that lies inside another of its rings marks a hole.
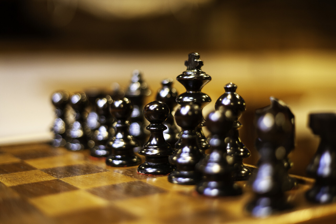
<instances>
[{"instance_id":1,"label":"blurred black rook cut off by the right photo edge","mask_svg":"<svg viewBox=\"0 0 336 224\"><path fill-rule=\"evenodd\" d=\"M309 114L309 127L321 137L316 154L307 167L309 176L316 179L306 198L315 203L336 201L336 114Z\"/></svg>"}]
</instances>

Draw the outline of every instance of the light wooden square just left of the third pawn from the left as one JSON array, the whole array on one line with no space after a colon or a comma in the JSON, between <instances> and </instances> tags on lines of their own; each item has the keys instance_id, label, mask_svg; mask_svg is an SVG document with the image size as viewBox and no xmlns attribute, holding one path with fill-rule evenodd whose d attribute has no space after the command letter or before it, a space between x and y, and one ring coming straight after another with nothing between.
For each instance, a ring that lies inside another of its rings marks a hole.
<instances>
[{"instance_id":1,"label":"light wooden square just left of the third pawn from the left","mask_svg":"<svg viewBox=\"0 0 336 224\"><path fill-rule=\"evenodd\" d=\"M28 159L25 162L37 167L38 169L46 169L57 166L67 166L85 163L83 154L67 153L59 156L50 156L36 159Z\"/></svg>"}]
</instances>

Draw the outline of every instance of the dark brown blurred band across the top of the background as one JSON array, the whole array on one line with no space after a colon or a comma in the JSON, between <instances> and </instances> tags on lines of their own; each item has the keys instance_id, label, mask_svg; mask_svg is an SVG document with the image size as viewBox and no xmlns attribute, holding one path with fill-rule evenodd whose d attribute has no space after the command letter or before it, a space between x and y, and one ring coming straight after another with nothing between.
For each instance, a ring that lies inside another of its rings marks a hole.
<instances>
[{"instance_id":1,"label":"dark brown blurred band across the top of the background","mask_svg":"<svg viewBox=\"0 0 336 224\"><path fill-rule=\"evenodd\" d=\"M91 9L99 2L2 0L0 49L336 48L334 1L208 0L200 4L170 1L173 6L170 12L149 11L134 16L131 13L121 16L122 13L114 14L108 9L101 13L96 9L93 13ZM134 7L129 8L131 12L137 11L138 6Z\"/></svg>"}]
</instances>

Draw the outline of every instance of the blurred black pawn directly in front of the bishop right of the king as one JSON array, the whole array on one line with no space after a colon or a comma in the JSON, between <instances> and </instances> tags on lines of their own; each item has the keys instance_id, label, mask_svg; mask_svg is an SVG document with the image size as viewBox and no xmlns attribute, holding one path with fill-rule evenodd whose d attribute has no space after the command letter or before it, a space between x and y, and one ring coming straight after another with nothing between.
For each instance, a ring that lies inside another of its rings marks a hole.
<instances>
[{"instance_id":1,"label":"blurred black pawn directly in front of the bishop right of the king","mask_svg":"<svg viewBox=\"0 0 336 224\"><path fill-rule=\"evenodd\" d=\"M223 107L207 116L207 129L210 131L210 153L199 163L196 169L203 174L196 185L198 193L205 196L228 196L242 194L242 189L233 180L232 156L227 154L225 136L233 125L233 117L225 113Z\"/></svg>"}]
</instances>

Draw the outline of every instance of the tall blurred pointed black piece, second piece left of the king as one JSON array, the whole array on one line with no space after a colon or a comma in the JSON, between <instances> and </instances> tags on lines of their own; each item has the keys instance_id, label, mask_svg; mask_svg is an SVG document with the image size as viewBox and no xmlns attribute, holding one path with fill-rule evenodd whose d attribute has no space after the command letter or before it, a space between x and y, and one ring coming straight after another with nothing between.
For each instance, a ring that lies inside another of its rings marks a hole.
<instances>
[{"instance_id":1,"label":"tall blurred pointed black piece, second piece left of the king","mask_svg":"<svg viewBox=\"0 0 336 224\"><path fill-rule=\"evenodd\" d=\"M145 97L150 95L151 90L148 88L147 83L142 79L142 73L139 70L134 70L125 97L133 103L133 111L129 119L129 132L139 141L140 145L143 145L147 137L143 130L145 124L142 108Z\"/></svg>"}]
</instances>

